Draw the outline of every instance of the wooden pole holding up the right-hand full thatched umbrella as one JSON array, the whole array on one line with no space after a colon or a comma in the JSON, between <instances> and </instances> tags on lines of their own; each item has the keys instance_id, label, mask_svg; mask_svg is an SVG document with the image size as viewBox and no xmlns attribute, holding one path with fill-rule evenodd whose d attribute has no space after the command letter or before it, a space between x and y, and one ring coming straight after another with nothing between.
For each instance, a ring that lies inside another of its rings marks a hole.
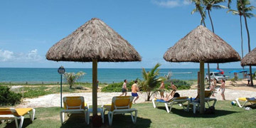
<instances>
[{"instance_id":1,"label":"wooden pole holding up the right-hand full thatched umbrella","mask_svg":"<svg viewBox=\"0 0 256 128\"><path fill-rule=\"evenodd\" d=\"M200 61L200 113L205 112L204 62Z\"/></svg>"}]
</instances>

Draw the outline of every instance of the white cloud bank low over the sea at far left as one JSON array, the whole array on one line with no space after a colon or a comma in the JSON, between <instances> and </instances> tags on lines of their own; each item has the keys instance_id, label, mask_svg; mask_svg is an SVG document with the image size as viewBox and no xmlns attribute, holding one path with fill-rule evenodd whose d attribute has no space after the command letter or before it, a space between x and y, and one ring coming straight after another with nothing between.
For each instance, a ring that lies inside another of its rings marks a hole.
<instances>
[{"instance_id":1,"label":"white cloud bank low over the sea at far left","mask_svg":"<svg viewBox=\"0 0 256 128\"><path fill-rule=\"evenodd\" d=\"M38 50L31 50L28 53L14 53L9 50L0 50L0 62L36 62L43 60L38 55Z\"/></svg>"}]
</instances>

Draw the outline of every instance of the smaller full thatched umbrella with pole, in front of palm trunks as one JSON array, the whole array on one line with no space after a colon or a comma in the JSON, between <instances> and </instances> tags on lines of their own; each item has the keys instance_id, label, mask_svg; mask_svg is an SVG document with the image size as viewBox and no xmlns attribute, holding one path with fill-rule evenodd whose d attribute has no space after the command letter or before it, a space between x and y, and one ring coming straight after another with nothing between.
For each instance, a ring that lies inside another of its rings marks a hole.
<instances>
[{"instance_id":1,"label":"smaller full thatched umbrella with pole, in front of palm trunks","mask_svg":"<svg viewBox=\"0 0 256 128\"><path fill-rule=\"evenodd\" d=\"M204 26L198 26L164 53L170 62L200 63L200 112L204 112L204 63L228 63L240 60L240 55L222 38Z\"/></svg>"}]
</instances>

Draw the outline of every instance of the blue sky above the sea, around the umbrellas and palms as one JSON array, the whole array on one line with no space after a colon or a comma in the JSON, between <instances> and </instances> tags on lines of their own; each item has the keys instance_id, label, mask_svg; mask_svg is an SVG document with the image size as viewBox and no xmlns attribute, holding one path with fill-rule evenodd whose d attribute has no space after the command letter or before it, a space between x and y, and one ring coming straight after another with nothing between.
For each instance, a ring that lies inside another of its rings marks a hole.
<instances>
[{"instance_id":1,"label":"blue sky above the sea, around the umbrellas and palms","mask_svg":"<svg viewBox=\"0 0 256 128\"><path fill-rule=\"evenodd\" d=\"M256 0L251 4L256 6ZM200 24L200 15L191 14L193 9L187 0L0 1L0 68L92 68L92 63L46 60L46 52L94 17L117 31L142 56L142 62L99 63L98 68L151 68L156 63L161 63L161 68L199 68L198 63L163 59L169 47ZM211 11L215 33L241 55L239 16L226 11ZM252 50L256 47L256 18L247 19L247 23ZM206 26L211 30L208 17ZM243 28L246 54L247 33ZM216 64L210 64L210 68L216 68ZM240 68L240 63L220 64L220 68Z\"/></svg>"}]
</instances>

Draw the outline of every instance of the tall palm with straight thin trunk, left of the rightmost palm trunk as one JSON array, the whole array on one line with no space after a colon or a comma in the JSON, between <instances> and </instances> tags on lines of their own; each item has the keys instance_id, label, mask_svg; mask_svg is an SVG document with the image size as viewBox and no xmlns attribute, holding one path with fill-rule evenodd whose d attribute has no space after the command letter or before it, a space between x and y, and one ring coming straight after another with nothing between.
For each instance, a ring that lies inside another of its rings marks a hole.
<instances>
[{"instance_id":1,"label":"tall palm with straight thin trunk, left of the rightmost palm trunk","mask_svg":"<svg viewBox=\"0 0 256 128\"><path fill-rule=\"evenodd\" d=\"M245 5L248 4L247 2L245 2ZM237 9L238 10L233 10L233 9L229 9L227 11L227 13L229 13L230 11L234 14L234 15L239 15L240 16L240 36L241 36L241 49L242 49L242 58L243 58L243 40L242 40L242 16L243 16L243 13L242 13L242 6L240 4L240 0L237 0ZM249 6L249 7L245 7L245 16L247 18L251 18L253 16L255 16L254 14L252 13L249 13L248 11L252 11L252 9L255 9L254 6ZM242 69L245 69L244 66L242 66ZM242 73L244 75L244 73ZM245 75L244 75L245 76Z\"/></svg>"}]
</instances>

